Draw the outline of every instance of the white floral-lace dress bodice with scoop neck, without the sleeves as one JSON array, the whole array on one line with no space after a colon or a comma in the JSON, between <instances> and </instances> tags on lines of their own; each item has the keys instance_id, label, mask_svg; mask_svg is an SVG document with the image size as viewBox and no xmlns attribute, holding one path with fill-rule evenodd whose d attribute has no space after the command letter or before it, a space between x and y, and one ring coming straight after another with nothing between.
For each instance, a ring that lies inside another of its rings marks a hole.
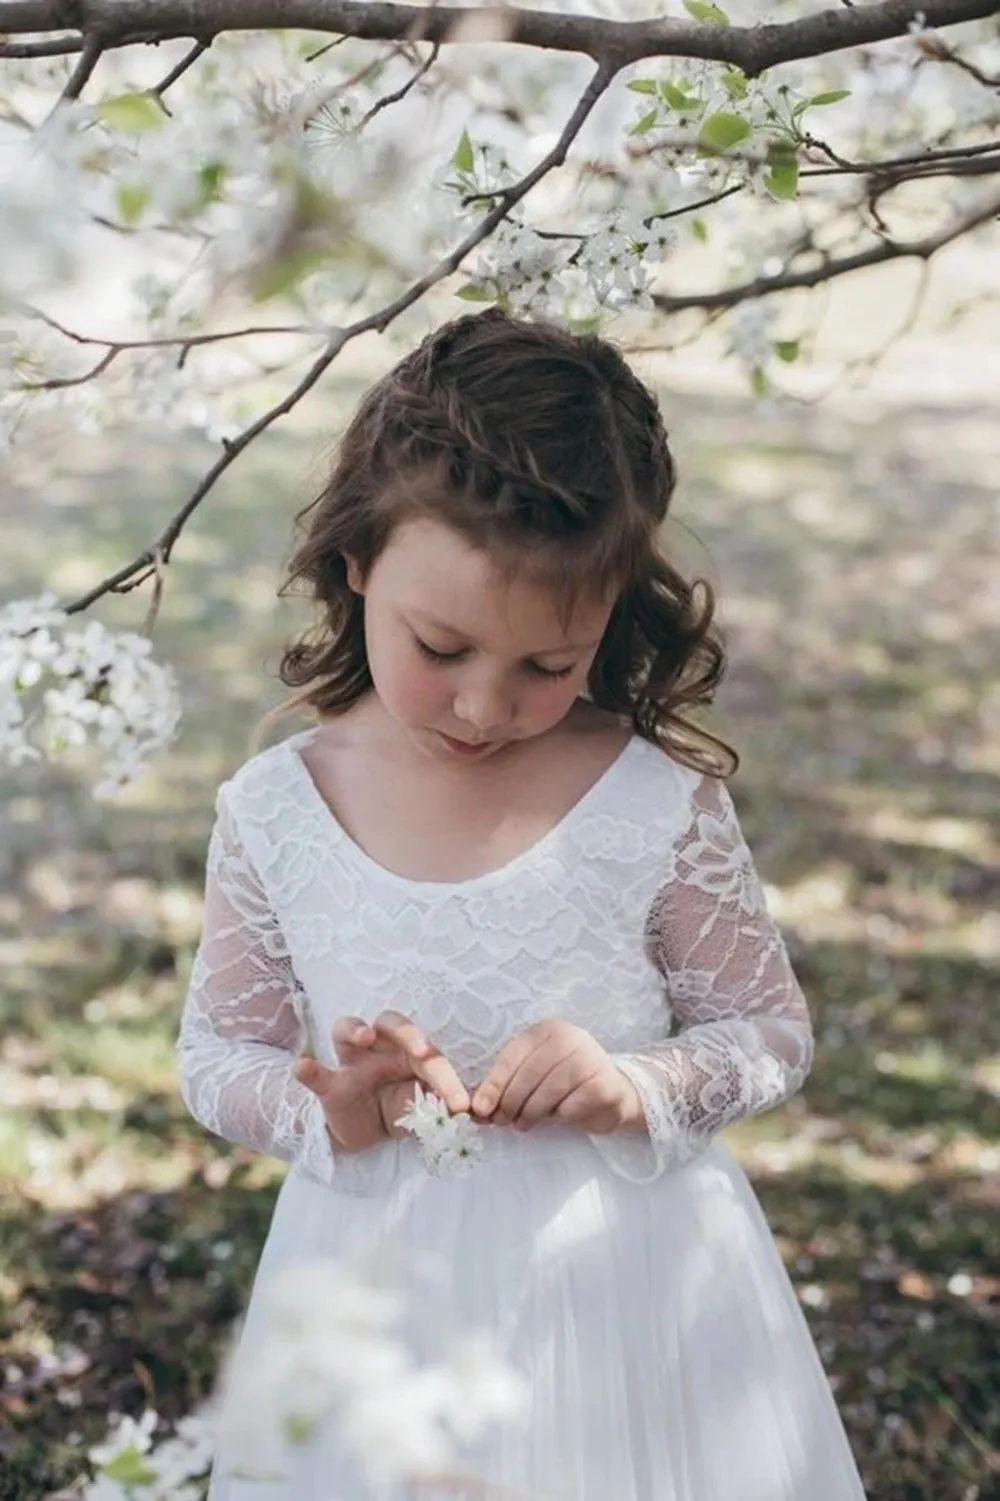
<instances>
[{"instance_id":1,"label":"white floral-lace dress bodice with scoop neck, without the sleeves","mask_svg":"<svg viewBox=\"0 0 1000 1501\"><path fill-rule=\"evenodd\" d=\"M377 865L336 821L300 755L312 732L249 763L225 800L308 997L317 1057L333 1061L336 1016L371 1021L386 1007L432 1036L465 1084L545 1016L611 1051L668 1034L644 931L695 773L634 738L500 869L416 881Z\"/></svg>"}]
</instances>

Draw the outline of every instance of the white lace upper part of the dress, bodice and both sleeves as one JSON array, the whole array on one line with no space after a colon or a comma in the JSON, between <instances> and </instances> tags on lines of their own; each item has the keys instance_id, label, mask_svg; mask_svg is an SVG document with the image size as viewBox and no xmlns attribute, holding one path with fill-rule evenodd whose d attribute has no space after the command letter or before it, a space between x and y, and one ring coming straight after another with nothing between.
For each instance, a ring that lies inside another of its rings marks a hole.
<instances>
[{"instance_id":1,"label":"white lace upper part of the dress, bodice and both sleeves","mask_svg":"<svg viewBox=\"0 0 1000 1501\"><path fill-rule=\"evenodd\" d=\"M306 1043L335 1061L338 1015L387 1006L467 1084L544 1016L587 1028L644 1103L649 1139L593 1138L635 1180L800 1087L805 1001L721 784L637 738L500 871L408 881L357 850L321 800L299 755L311 734L219 791L179 1039L185 1100L210 1130L375 1192L398 1171L396 1145L335 1160L291 1067Z\"/></svg>"}]
</instances>

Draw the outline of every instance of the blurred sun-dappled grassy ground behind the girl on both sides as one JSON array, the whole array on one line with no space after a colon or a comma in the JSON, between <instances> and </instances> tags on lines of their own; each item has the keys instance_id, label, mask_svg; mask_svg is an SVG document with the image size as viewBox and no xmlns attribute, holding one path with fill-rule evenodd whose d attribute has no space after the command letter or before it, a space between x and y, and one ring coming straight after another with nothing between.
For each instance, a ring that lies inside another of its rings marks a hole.
<instances>
[{"instance_id":1,"label":"blurred sun-dappled grassy ground behind the girl on both sides","mask_svg":"<svg viewBox=\"0 0 1000 1501\"><path fill-rule=\"evenodd\" d=\"M995 411L848 420L667 398L677 546L718 576L718 725L812 1003L805 1094L733 1132L874 1501L1000 1490L1000 660ZM138 434L3 506L11 593L71 596L206 453ZM992 461L992 462L991 462ZM173 1039L219 778L276 696L275 558L315 453L272 438L206 504L158 642L174 752L113 811L6 776L0 829L0 1495L80 1477L108 1408L209 1388L279 1183L180 1105ZM6 590L6 585L5 585ZM135 624L119 600L104 618ZM992 749L991 749L992 746ZM994 1000L991 1006L989 1001ZM991 1256L992 1241L992 1256ZM808 1501L808 1498L803 1498Z\"/></svg>"}]
</instances>

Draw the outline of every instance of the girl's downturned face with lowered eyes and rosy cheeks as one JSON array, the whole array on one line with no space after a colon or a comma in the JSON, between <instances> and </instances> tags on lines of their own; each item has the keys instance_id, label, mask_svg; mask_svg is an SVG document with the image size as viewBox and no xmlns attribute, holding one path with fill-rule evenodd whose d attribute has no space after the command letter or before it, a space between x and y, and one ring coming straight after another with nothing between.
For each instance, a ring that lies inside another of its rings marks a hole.
<instances>
[{"instance_id":1,"label":"girl's downturned face with lowered eyes and rosy cheeks","mask_svg":"<svg viewBox=\"0 0 1000 1501\"><path fill-rule=\"evenodd\" d=\"M614 603L586 596L560 618L548 590L500 581L485 552L426 518L396 527L368 578L350 561L348 579L383 708L422 754L453 763L557 725Z\"/></svg>"}]
</instances>

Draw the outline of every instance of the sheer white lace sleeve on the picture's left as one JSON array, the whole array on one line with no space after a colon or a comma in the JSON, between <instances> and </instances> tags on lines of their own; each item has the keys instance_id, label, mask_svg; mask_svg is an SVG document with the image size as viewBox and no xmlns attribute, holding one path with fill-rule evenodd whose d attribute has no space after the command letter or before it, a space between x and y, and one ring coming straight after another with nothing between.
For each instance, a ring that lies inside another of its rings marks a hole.
<instances>
[{"instance_id":1,"label":"sheer white lace sleeve on the picture's left","mask_svg":"<svg viewBox=\"0 0 1000 1501\"><path fill-rule=\"evenodd\" d=\"M180 1093L216 1135L332 1183L323 1106L291 1073L305 1018L305 994L222 788L177 1039Z\"/></svg>"}]
</instances>

